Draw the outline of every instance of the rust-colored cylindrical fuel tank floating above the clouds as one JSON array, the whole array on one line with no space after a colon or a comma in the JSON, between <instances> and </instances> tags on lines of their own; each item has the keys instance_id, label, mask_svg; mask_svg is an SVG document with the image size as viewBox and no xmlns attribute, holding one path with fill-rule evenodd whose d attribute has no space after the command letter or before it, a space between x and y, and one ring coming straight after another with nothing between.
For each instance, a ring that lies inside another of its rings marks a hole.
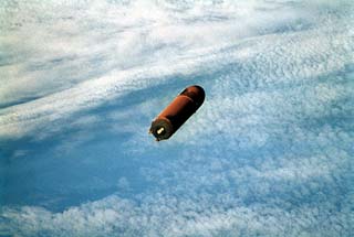
<instances>
[{"instance_id":1,"label":"rust-colored cylindrical fuel tank floating above the clouds","mask_svg":"<svg viewBox=\"0 0 354 237\"><path fill-rule=\"evenodd\" d=\"M149 132L157 141L168 139L197 111L206 94L200 86L189 86L181 91L152 122Z\"/></svg>"}]
</instances>

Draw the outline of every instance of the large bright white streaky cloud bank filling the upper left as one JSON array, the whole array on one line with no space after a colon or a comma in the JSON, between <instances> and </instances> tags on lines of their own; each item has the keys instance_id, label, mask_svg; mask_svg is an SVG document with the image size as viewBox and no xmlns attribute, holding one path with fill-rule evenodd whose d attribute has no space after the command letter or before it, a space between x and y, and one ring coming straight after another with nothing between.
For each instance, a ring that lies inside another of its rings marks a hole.
<instances>
[{"instance_id":1,"label":"large bright white streaky cloud bank filling the upper left","mask_svg":"<svg viewBox=\"0 0 354 237\"><path fill-rule=\"evenodd\" d=\"M190 75L248 56L250 46L228 49L237 47L244 36L299 17L287 8L272 10L274 14L257 10L260 4L272 9L280 3L143 4L149 8L140 3L2 6L12 17L2 25L1 42L9 57L1 77L1 104L37 99L2 109L1 137L25 136L45 121L163 83L166 76ZM211 13L220 20L197 21Z\"/></svg>"}]
</instances>

